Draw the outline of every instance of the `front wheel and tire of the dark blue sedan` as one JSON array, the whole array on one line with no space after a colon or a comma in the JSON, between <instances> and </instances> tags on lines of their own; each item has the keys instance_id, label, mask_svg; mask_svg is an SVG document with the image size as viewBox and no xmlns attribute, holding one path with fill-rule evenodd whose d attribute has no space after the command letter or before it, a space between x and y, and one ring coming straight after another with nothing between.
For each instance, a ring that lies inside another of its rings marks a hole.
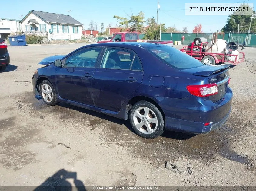
<instances>
[{"instance_id":1,"label":"front wheel and tire of the dark blue sedan","mask_svg":"<svg viewBox=\"0 0 256 191\"><path fill-rule=\"evenodd\" d=\"M47 105L57 105L57 97L55 89L48 80L43 80L39 85L39 93L42 97L42 100Z\"/></svg>"}]
</instances>

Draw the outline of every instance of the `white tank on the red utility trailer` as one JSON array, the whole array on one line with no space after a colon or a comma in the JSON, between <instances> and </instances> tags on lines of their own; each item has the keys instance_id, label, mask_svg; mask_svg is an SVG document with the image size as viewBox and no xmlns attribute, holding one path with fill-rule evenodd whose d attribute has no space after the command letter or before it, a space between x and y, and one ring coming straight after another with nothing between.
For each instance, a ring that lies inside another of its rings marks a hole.
<instances>
[{"instance_id":1,"label":"white tank on the red utility trailer","mask_svg":"<svg viewBox=\"0 0 256 191\"><path fill-rule=\"evenodd\" d=\"M226 40L223 40L223 39L217 39L216 40L216 43L214 44L214 40L213 42L209 42L206 46L206 49L205 49L205 52L207 53L221 53L221 54L224 54L224 48L226 48L227 46L227 41ZM211 51L211 46L212 46L212 51ZM222 58L222 55L215 55L218 59L221 59Z\"/></svg>"}]
</instances>

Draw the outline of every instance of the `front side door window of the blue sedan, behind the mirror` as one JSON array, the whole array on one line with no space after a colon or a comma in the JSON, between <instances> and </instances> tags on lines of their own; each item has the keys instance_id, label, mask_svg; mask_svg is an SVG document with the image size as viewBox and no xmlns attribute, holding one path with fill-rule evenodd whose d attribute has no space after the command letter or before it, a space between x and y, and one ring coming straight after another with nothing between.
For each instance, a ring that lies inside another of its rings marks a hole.
<instances>
[{"instance_id":1,"label":"front side door window of the blue sedan, behind the mirror","mask_svg":"<svg viewBox=\"0 0 256 191\"><path fill-rule=\"evenodd\" d=\"M63 67L93 68L101 48L84 49L69 56Z\"/></svg>"}]
</instances>

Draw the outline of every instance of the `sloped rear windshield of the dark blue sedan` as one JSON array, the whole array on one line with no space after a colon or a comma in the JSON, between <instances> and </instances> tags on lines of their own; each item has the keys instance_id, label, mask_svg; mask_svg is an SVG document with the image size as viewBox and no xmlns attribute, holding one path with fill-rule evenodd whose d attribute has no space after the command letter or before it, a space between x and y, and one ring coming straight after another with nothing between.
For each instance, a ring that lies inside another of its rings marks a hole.
<instances>
[{"instance_id":1,"label":"sloped rear windshield of the dark blue sedan","mask_svg":"<svg viewBox=\"0 0 256 191\"><path fill-rule=\"evenodd\" d=\"M204 65L204 63L170 46L155 46L148 48L148 50L166 64L177 69L197 68Z\"/></svg>"}]
</instances>

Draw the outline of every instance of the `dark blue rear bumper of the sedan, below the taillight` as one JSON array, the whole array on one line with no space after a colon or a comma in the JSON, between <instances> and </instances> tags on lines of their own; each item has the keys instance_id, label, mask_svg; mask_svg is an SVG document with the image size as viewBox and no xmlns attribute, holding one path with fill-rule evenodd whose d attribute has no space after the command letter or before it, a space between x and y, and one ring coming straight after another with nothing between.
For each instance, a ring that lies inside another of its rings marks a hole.
<instances>
[{"instance_id":1,"label":"dark blue rear bumper of the sedan, below the taillight","mask_svg":"<svg viewBox=\"0 0 256 191\"><path fill-rule=\"evenodd\" d=\"M184 99L157 98L165 113L165 129L187 133L206 133L221 126L231 112L233 93L227 88L217 102L195 96ZM205 123L210 123L204 126Z\"/></svg>"}]
</instances>

